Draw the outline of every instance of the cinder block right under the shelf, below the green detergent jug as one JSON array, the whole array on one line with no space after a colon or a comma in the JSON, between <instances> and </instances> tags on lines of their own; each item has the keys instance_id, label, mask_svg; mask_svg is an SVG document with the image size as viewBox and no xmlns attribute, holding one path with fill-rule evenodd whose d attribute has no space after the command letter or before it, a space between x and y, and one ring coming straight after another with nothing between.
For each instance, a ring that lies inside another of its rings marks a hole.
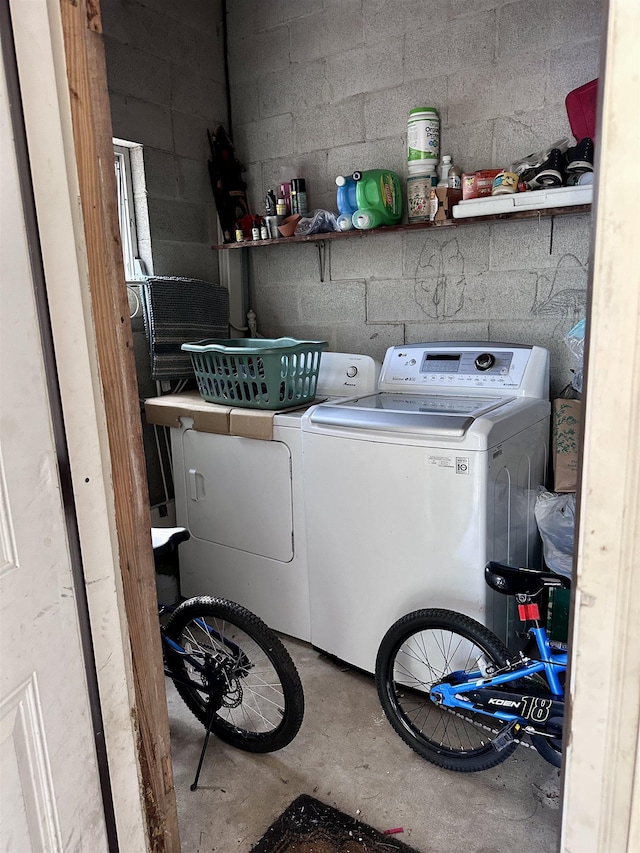
<instances>
[{"instance_id":1,"label":"cinder block right under the shelf, below the green detergent jug","mask_svg":"<svg viewBox=\"0 0 640 853\"><path fill-rule=\"evenodd\" d=\"M402 275L398 234L365 235L331 243L331 278L393 279Z\"/></svg>"}]
</instances>

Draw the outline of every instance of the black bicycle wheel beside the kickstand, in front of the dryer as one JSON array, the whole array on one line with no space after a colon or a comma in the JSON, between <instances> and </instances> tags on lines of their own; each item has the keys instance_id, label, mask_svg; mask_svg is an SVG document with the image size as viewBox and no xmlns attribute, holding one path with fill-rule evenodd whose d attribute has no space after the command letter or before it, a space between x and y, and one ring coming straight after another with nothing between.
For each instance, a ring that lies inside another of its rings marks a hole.
<instances>
[{"instance_id":1,"label":"black bicycle wheel beside the kickstand, in front of the dryer","mask_svg":"<svg viewBox=\"0 0 640 853\"><path fill-rule=\"evenodd\" d=\"M290 743L304 715L295 664L281 641L254 613L234 602L201 596L176 608L165 643L176 690L203 725L248 752L274 752Z\"/></svg>"}]
</instances>

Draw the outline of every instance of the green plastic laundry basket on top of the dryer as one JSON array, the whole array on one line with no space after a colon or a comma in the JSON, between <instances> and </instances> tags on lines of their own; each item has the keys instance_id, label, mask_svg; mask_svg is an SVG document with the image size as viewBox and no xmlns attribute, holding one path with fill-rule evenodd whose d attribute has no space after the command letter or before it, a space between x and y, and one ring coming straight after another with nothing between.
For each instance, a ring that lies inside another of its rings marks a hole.
<instances>
[{"instance_id":1,"label":"green plastic laundry basket on top of the dryer","mask_svg":"<svg viewBox=\"0 0 640 853\"><path fill-rule=\"evenodd\" d=\"M327 341L235 338L182 344L198 390L209 403L286 409L313 400Z\"/></svg>"}]
</instances>

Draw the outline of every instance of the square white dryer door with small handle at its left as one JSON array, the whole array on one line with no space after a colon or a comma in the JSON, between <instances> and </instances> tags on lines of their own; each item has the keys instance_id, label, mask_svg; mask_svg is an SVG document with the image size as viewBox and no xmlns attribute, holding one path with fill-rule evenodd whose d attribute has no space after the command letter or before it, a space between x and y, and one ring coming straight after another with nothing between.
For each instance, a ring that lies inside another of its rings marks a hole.
<instances>
[{"instance_id":1,"label":"square white dryer door with small handle at its left","mask_svg":"<svg viewBox=\"0 0 640 853\"><path fill-rule=\"evenodd\" d=\"M183 449L191 535L284 563L292 560L287 445L189 429Z\"/></svg>"}]
</instances>

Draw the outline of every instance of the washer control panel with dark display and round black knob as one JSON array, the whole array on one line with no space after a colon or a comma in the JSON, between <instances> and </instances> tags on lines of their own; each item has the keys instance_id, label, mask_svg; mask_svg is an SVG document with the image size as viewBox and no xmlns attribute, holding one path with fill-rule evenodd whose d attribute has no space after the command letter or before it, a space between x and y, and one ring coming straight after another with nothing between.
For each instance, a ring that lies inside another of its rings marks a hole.
<instances>
[{"instance_id":1,"label":"washer control panel with dark display and round black knob","mask_svg":"<svg viewBox=\"0 0 640 853\"><path fill-rule=\"evenodd\" d=\"M536 346L482 341L408 344L387 350L381 391L440 393L482 389L547 397L549 353Z\"/></svg>"}]
</instances>

